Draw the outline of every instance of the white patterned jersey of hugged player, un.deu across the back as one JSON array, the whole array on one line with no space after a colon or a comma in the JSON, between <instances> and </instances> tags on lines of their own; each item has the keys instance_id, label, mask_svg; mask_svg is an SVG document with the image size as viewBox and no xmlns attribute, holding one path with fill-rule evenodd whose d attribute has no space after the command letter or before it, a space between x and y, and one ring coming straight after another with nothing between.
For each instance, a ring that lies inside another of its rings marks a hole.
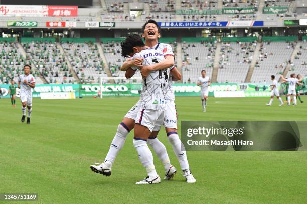
<instances>
[{"instance_id":1,"label":"white patterned jersey of hugged player, un.deu across the back","mask_svg":"<svg viewBox=\"0 0 307 204\"><path fill-rule=\"evenodd\" d=\"M164 55L161 51L156 49L144 49L139 53L134 54L132 59L143 58L142 65L154 65L164 60ZM143 87L141 90L141 103L143 109L151 109L157 111L164 111L166 109L166 95L168 92L168 79L170 69L159 71L152 71L143 80Z\"/></svg>"}]
</instances>

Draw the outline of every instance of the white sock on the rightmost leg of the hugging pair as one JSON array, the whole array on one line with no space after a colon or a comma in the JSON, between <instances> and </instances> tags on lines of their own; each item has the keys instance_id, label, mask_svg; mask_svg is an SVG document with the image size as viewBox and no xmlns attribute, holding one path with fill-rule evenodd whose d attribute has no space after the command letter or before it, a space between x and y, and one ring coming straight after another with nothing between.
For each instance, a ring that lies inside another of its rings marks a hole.
<instances>
[{"instance_id":1,"label":"white sock on the rightmost leg of the hugging pair","mask_svg":"<svg viewBox=\"0 0 307 204\"><path fill-rule=\"evenodd\" d=\"M169 132L168 133L168 140L173 146L173 150L177 156L177 159L179 161L180 167L182 170L187 170L189 169L189 162L187 159L187 153L185 150L182 150L183 144L179 139L179 136L177 132Z\"/></svg>"}]
</instances>

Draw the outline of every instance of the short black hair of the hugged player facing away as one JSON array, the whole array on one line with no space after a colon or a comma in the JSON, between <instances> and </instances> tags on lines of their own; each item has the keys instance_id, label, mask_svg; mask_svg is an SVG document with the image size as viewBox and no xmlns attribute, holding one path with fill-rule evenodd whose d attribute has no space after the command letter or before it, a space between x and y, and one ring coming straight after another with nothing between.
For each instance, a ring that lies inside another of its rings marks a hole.
<instances>
[{"instance_id":1,"label":"short black hair of the hugged player facing away","mask_svg":"<svg viewBox=\"0 0 307 204\"><path fill-rule=\"evenodd\" d=\"M138 34L131 34L127 36L127 38L120 43L121 46L121 55L123 57L129 56L129 54L133 53L133 47L139 46L143 47L145 46L142 38Z\"/></svg>"}]
</instances>

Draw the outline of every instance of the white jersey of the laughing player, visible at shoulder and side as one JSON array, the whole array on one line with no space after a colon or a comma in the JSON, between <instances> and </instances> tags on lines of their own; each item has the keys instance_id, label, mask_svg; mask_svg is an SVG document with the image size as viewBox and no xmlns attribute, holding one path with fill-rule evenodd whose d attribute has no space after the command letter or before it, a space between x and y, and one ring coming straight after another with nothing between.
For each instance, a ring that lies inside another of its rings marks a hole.
<instances>
[{"instance_id":1,"label":"white jersey of the laughing player, visible at shoulder and side","mask_svg":"<svg viewBox=\"0 0 307 204\"><path fill-rule=\"evenodd\" d=\"M173 49L171 45L165 44L165 43L158 43L155 46L151 47L152 49L160 50L164 57L166 56L174 56ZM175 56L174 56L175 57ZM172 68L171 68L172 69ZM168 80L168 93L166 96L167 100L170 101L175 101L175 93L173 89L173 80L172 80L172 75L170 75L169 80Z\"/></svg>"}]
</instances>

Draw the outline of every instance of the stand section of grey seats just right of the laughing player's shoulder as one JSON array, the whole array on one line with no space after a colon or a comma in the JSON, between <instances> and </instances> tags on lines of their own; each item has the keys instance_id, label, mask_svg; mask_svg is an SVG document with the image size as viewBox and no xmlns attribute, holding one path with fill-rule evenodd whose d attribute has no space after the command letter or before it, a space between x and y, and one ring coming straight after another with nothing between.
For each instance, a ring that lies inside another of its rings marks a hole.
<instances>
[{"instance_id":1,"label":"stand section of grey seats just right of the laughing player's shoulder","mask_svg":"<svg viewBox=\"0 0 307 204\"><path fill-rule=\"evenodd\" d=\"M182 38L184 83L195 83L202 70L212 77L216 42L209 38Z\"/></svg>"}]
</instances>

